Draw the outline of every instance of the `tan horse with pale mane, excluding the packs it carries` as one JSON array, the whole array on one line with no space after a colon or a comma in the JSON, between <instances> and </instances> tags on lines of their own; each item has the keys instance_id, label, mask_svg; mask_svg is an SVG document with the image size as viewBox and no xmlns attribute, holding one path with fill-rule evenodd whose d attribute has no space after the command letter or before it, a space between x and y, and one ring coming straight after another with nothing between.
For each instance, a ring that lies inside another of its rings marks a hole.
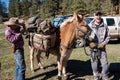
<instances>
[{"instance_id":1,"label":"tan horse with pale mane, excluding the packs it carries","mask_svg":"<svg viewBox=\"0 0 120 80\"><path fill-rule=\"evenodd\" d=\"M52 25L48 25L48 26L52 26ZM49 52L54 53L57 56L58 78L59 79L61 78L62 74L63 76L67 76L66 74L67 61L71 55L72 44L76 36L85 37L88 32L89 32L89 27L87 26L86 22L83 20L83 16L78 15L77 13L74 13L72 18L62 23L60 30L59 32L57 32L56 37L55 37L57 38L57 41L56 39L54 39L53 42L50 42L52 44L54 43L54 45L49 50ZM29 46L29 48L30 48L31 70L34 70L33 53L36 49L38 51L37 52L38 65L41 68L43 68L40 62L40 54L41 52L46 52L46 50L41 50L38 47L34 47L31 45Z\"/></svg>"}]
</instances>

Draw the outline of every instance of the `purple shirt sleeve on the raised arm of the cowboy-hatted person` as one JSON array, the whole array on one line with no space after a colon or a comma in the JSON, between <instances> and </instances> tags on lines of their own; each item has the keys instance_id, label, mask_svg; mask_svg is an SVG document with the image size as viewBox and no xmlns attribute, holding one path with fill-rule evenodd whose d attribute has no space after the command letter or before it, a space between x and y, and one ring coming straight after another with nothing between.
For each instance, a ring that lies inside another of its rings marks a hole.
<instances>
[{"instance_id":1,"label":"purple shirt sleeve on the raised arm of the cowboy-hatted person","mask_svg":"<svg viewBox=\"0 0 120 80\"><path fill-rule=\"evenodd\" d=\"M16 43L19 40L19 38L21 37L21 34L20 33L12 33L9 30L6 30L5 37L9 42Z\"/></svg>"}]
</instances>

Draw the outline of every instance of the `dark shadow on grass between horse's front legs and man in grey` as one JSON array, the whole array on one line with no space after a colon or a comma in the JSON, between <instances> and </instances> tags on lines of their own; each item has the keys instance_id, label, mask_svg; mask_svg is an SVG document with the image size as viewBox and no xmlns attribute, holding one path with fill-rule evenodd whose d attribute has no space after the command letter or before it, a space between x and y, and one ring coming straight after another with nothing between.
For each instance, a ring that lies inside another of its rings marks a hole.
<instances>
[{"instance_id":1,"label":"dark shadow on grass between horse's front legs and man in grey","mask_svg":"<svg viewBox=\"0 0 120 80\"><path fill-rule=\"evenodd\" d=\"M68 80L84 80L83 76L92 75L90 60L69 60L68 61Z\"/></svg>"}]
</instances>

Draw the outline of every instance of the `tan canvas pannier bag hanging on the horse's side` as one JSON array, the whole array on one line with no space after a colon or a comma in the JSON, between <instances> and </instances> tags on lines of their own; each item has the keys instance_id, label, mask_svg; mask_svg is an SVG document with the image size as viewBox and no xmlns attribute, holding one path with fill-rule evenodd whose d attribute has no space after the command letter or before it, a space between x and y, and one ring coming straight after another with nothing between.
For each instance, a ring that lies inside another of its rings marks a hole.
<instances>
[{"instance_id":1,"label":"tan canvas pannier bag hanging on the horse's side","mask_svg":"<svg viewBox=\"0 0 120 80\"><path fill-rule=\"evenodd\" d=\"M33 46L42 51L48 51L55 46L56 33L51 35L35 34L33 37Z\"/></svg>"}]
</instances>

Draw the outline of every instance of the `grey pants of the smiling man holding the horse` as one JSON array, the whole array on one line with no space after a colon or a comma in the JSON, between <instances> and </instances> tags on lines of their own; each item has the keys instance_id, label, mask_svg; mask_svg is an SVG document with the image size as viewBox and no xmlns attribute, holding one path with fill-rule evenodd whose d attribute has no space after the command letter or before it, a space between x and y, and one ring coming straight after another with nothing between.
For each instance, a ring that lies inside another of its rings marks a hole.
<instances>
[{"instance_id":1,"label":"grey pants of the smiling man holding the horse","mask_svg":"<svg viewBox=\"0 0 120 80\"><path fill-rule=\"evenodd\" d=\"M91 67L95 78L99 77L99 62L102 67L102 78L103 80L108 79L108 60L106 50L91 50Z\"/></svg>"}]
</instances>

